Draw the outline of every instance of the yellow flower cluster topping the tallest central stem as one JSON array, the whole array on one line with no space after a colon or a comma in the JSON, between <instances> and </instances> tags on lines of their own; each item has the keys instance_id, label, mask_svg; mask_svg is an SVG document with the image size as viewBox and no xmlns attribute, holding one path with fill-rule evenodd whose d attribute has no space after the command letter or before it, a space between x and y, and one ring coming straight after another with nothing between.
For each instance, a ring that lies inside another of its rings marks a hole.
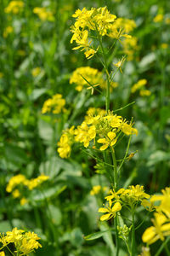
<instances>
[{"instance_id":1,"label":"yellow flower cluster topping the tallest central stem","mask_svg":"<svg viewBox=\"0 0 170 256\"><path fill-rule=\"evenodd\" d=\"M106 7L90 10L77 9L72 16L76 18L76 22L71 26L73 33L71 44L76 41L77 47L73 49L82 48L88 59L93 57L99 49L99 45L94 47L94 38L104 36L117 40L122 37L131 38L127 33L136 27L134 20L116 19L116 15L112 15Z\"/></svg>"}]
</instances>

